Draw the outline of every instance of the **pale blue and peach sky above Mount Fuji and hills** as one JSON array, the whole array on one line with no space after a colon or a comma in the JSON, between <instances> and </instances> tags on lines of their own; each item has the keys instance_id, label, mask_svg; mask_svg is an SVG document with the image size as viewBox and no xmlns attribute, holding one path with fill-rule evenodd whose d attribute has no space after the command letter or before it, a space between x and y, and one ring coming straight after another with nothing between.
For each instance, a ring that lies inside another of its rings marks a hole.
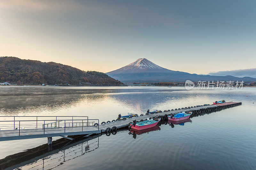
<instances>
[{"instance_id":1,"label":"pale blue and peach sky above Mount Fuji and hills","mask_svg":"<svg viewBox=\"0 0 256 170\"><path fill-rule=\"evenodd\" d=\"M256 1L0 3L0 56L108 72L147 58L189 73L255 68Z\"/></svg>"}]
</instances>

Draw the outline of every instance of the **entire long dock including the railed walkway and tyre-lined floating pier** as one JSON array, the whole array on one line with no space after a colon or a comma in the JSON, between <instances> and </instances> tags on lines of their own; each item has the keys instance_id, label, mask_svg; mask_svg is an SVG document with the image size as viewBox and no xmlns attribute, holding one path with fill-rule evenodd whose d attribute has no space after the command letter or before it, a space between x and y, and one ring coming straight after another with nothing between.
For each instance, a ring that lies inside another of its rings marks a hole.
<instances>
[{"instance_id":1,"label":"entire long dock including the railed walkway and tyre-lined floating pier","mask_svg":"<svg viewBox=\"0 0 256 170\"><path fill-rule=\"evenodd\" d=\"M1 116L1 118L13 117L14 119L0 121L0 141L48 137L48 144L52 144L52 137L65 137L70 135L86 135L86 137L89 137L90 135L106 132L107 128L117 130L119 128L127 127L129 122L132 122L133 120L140 121L152 117L161 117L161 119L164 120L166 115L185 111L192 111L193 116L198 113L220 111L241 104L242 102L227 102L216 105L178 108L177 110L166 110L164 112L102 124L100 124L99 119L88 119L87 116ZM31 119L24 120L24 118L27 117L31 117ZM41 120L45 117L48 119ZM63 119L64 117L70 118Z\"/></svg>"}]
</instances>

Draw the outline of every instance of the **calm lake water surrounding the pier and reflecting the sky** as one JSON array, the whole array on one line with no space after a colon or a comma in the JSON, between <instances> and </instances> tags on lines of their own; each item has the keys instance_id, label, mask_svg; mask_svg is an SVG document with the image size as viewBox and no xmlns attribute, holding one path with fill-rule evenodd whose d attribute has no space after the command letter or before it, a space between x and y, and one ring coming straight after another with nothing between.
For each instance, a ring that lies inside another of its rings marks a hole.
<instances>
[{"instance_id":1,"label":"calm lake water surrounding the pier and reflecting the sky","mask_svg":"<svg viewBox=\"0 0 256 170\"><path fill-rule=\"evenodd\" d=\"M256 169L256 88L4 86L0 87L0 100L1 116L89 116L100 122L148 109L168 110L216 100L242 102L192 117L191 122L174 128L162 124L136 137L124 129L116 135L67 146L63 143L63 148L32 160L20 158L24 159L17 166L20 169ZM0 159L46 143L47 138L0 142Z\"/></svg>"}]
</instances>

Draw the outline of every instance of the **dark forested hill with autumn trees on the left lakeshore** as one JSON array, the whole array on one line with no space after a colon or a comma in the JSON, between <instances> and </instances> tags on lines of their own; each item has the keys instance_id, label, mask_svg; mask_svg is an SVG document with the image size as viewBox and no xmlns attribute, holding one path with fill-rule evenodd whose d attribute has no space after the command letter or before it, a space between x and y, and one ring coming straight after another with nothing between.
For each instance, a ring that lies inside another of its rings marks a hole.
<instances>
[{"instance_id":1,"label":"dark forested hill with autumn trees on the left lakeshore","mask_svg":"<svg viewBox=\"0 0 256 170\"><path fill-rule=\"evenodd\" d=\"M97 71L82 71L60 63L0 57L0 82L17 84L118 85L120 81Z\"/></svg>"}]
</instances>

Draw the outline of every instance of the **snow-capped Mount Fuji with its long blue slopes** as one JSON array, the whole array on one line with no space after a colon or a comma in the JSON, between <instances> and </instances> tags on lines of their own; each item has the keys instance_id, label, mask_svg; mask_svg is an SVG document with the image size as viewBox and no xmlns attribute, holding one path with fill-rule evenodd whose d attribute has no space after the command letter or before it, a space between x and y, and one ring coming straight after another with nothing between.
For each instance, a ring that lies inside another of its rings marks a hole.
<instances>
[{"instance_id":1,"label":"snow-capped Mount Fuji with its long blue slopes","mask_svg":"<svg viewBox=\"0 0 256 170\"><path fill-rule=\"evenodd\" d=\"M256 81L256 78L234 76L210 76L190 74L182 71L168 70L152 63L146 58L140 58L120 69L106 73L108 76L124 83L157 83L191 81Z\"/></svg>"}]
</instances>

